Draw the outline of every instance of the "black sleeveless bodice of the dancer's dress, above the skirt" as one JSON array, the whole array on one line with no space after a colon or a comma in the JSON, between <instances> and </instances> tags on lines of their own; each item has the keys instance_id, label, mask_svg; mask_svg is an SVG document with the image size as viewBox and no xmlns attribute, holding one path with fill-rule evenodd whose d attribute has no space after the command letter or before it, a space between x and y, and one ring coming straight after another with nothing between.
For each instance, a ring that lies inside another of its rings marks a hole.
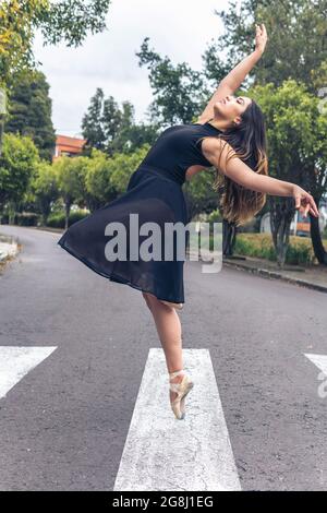
<instances>
[{"instance_id":1,"label":"black sleeveless bodice of the dancer's dress, above the skirt","mask_svg":"<svg viewBox=\"0 0 327 513\"><path fill-rule=\"evenodd\" d=\"M218 133L221 131L209 122L169 127L154 143L140 168L162 170L162 174L169 174L171 179L182 186L189 167L194 165L213 166L202 153L201 139L215 136Z\"/></svg>"}]
</instances>

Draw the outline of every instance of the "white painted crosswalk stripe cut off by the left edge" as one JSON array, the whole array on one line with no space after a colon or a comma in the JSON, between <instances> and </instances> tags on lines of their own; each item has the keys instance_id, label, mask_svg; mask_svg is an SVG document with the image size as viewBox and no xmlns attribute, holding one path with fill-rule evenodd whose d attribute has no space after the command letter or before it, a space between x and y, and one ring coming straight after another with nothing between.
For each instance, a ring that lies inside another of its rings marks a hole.
<instances>
[{"instance_id":1,"label":"white painted crosswalk stripe cut off by the left edge","mask_svg":"<svg viewBox=\"0 0 327 513\"><path fill-rule=\"evenodd\" d=\"M57 349L55 347L17 347L1 346L0 347L0 398L19 381L24 378L27 372L34 369L45 358Z\"/></svg>"}]
</instances>

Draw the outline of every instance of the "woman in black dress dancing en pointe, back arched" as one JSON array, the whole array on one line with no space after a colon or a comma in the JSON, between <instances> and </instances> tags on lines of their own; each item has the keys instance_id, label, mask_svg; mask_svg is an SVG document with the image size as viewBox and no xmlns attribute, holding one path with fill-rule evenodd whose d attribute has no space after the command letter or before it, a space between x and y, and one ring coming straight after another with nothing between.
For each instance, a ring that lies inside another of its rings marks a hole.
<instances>
[{"instance_id":1,"label":"woman in black dress dancing en pointe, back arched","mask_svg":"<svg viewBox=\"0 0 327 513\"><path fill-rule=\"evenodd\" d=\"M185 417L185 397L193 386L184 371L182 331L183 260L108 259L108 229L122 224L130 234L131 214L141 224L189 223L182 184L196 172L216 168L214 188L225 186L223 217L244 224L262 210L266 194L291 196L305 216L318 216L313 196L301 187L268 177L264 116L247 96L233 96L259 60L267 41L264 24L256 25L255 50L220 82L196 123L164 130L138 168L126 192L74 223L59 244L96 273L142 291L154 318L170 378L170 405L175 418ZM113 225L114 223L114 225ZM111 239L112 240L112 239ZM140 242L135 242L140 249ZM165 240L164 240L165 246ZM130 250L135 247L131 244Z\"/></svg>"}]
</instances>

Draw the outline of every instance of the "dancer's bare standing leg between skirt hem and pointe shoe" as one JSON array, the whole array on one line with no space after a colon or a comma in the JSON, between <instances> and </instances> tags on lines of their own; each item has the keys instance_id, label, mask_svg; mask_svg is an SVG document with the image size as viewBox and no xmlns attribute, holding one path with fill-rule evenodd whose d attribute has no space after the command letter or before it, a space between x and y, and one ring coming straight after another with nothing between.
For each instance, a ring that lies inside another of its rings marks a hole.
<instances>
[{"instance_id":1,"label":"dancer's bare standing leg between skirt hem and pointe shoe","mask_svg":"<svg viewBox=\"0 0 327 513\"><path fill-rule=\"evenodd\" d=\"M159 339L165 351L168 372L183 369L182 327L179 314L173 307L162 303L152 294L142 294L154 317ZM171 380L171 382L179 383L182 379L183 374L179 374ZM175 396L177 393L170 391L171 401L173 401Z\"/></svg>"}]
</instances>

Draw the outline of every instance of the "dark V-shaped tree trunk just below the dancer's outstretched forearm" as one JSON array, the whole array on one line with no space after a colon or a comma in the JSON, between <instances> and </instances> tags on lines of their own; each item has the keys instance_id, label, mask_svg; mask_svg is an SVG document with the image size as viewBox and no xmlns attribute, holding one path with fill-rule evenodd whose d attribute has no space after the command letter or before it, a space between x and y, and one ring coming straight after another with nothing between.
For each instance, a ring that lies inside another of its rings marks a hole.
<instances>
[{"instance_id":1,"label":"dark V-shaped tree trunk just below the dancer's outstretched forearm","mask_svg":"<svg viewBox=\"0 0 327 513\"><path fill-rule=\"evenodd\" d=\"M286 262L293 217L294 200L292 198L270 198L270 229L279 267L282 267Z\"/></svg>"}]
</instances>

